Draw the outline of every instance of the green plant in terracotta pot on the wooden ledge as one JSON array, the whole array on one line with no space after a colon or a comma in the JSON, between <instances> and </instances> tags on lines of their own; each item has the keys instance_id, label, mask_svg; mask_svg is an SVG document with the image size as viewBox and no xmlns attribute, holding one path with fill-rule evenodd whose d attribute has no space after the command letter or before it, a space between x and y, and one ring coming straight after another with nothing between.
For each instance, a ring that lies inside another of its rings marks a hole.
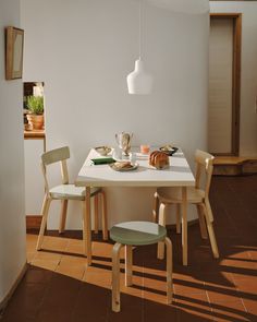
<instances>
[{"instance_id":1,"label":"green plant in terracotta pot on the wooden ledge","mask_svg":"<svg viewBox=\"0 0 257 322\"><path fill-rule=\"evenodd\" d=\"M33 130L41 130L44 127L44 97L27 97L27 121Z\"/></svg>"}]
</instances>

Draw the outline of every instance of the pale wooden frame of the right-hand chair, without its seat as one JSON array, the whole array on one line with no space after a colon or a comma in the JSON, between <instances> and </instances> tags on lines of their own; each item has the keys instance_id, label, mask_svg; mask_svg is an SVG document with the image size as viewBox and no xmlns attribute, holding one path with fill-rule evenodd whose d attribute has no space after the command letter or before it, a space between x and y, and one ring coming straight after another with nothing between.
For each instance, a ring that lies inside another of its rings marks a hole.
<instances>
[{"instance_id":1,"label":"pale wooden frame of the right-hand chair, without its seat","mask_svg":"<svg viewBox=\"0 0 257 322\"><path fill-rule=\"evenodd\" d=\"M197 207L197 214L199 219L200 235L203 239L207 239L209 235L209 240L211 245L211 250L213 253L213 258L219 258L219 250L216 241L215 230L213 230L213 215L209 202L209 190L211 183L211 176L213 171L213 156L207 152L197 150L195 153L195 163L196 163L196 175L195 175L195 190L200 189L200 179L203 174L206 174L205 180L205 189L204 189L204 198L201 202L191 201L188 203L193 203ZM167 217L167 205L175 204L176 205L176 232L181 232L181 204L182 198L163 198L160 193L155 193L154 201L154 210L152 216L155 222L159 222L159 225L166 226L166 217ZM182 225L187 225L187 223L183 223ZM206 227L207 225L207 227ZM208 234L207 234L208 230ZM158 243L158 258L163 259L164 255L164 246L163 242Z\"/></svg>"}]
</instances>

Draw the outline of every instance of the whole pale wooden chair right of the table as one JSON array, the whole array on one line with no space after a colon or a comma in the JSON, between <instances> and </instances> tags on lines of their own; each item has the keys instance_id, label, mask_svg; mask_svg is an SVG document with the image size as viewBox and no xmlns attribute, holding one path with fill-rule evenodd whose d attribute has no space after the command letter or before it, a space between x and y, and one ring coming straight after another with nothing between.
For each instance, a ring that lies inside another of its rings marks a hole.
<instances>
[{"instance_id":1,"label":"whole pale wooden chair right of the table","mask_svg":"<svg viewBox=\"0 0 257 322\"><path fill-rule=\"evenodd\" d=\"M197 207L197 214L199 218L200 235L201 238L207 239L207 229L209 234L209 240L212 249L213 257L219 258L219 250L216 242L216 236L213 230L213 215L209 202L209 189L211 182L211 176L213 170L213 156L209 153L197 150L195 153L196 163L196 182L195 187L187 188L187 202L195 204ZM205 178L203 178L205 175ZM204 179L204 180L203 180ZM200 183L204 181L204 187L200 189ZM154 206L154 219L159 220L159 224L166 226L167 205L176 205L176 232L181 232L181 204L182 193L178 188L158 188L155 193L155 206ZM183 223L182 225L187 225ZM207 229L206 229L207 224ZM158 243L158 258L163 258L163 243Z\"/></svg>"}]
</instances>

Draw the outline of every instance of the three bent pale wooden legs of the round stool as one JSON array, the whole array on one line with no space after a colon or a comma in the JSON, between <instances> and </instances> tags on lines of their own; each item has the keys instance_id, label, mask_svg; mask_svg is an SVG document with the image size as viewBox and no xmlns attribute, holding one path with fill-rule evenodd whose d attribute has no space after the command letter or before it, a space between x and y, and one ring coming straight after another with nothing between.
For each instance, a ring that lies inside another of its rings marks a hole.
<instances>
[{"instance_id":1,"label":"three bent pale wooden legs of the round stool","mask_svg":"<svg viewBox=\"0 0 257 322\"><path fill-rule=\"evenodd\" d=\"M172 242L166 237L163 245L167 247L167 303L170 305L173 298L172 282ZM125 286L133 285L133 246L115 242L112 249L112 311L120 312L120 253L125 247Z\"/></svg>"}]
</instances>

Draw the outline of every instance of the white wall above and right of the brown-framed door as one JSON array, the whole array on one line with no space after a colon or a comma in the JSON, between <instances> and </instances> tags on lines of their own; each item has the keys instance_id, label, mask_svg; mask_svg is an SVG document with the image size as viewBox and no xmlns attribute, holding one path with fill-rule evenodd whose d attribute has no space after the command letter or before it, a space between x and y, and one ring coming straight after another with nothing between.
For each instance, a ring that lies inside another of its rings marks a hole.
<instances>
[{"instance_id":1,"label":"white wall above and right of the brown-framed door","mask_svg":"<svg viewBox=\"0 0 257 322\"><path fill-rule=\"evenodd\" d=\"M242 80L240 155L257 155L257 2L212 1L211 12L241 12Z\"/></svg>"}]
</instances>

